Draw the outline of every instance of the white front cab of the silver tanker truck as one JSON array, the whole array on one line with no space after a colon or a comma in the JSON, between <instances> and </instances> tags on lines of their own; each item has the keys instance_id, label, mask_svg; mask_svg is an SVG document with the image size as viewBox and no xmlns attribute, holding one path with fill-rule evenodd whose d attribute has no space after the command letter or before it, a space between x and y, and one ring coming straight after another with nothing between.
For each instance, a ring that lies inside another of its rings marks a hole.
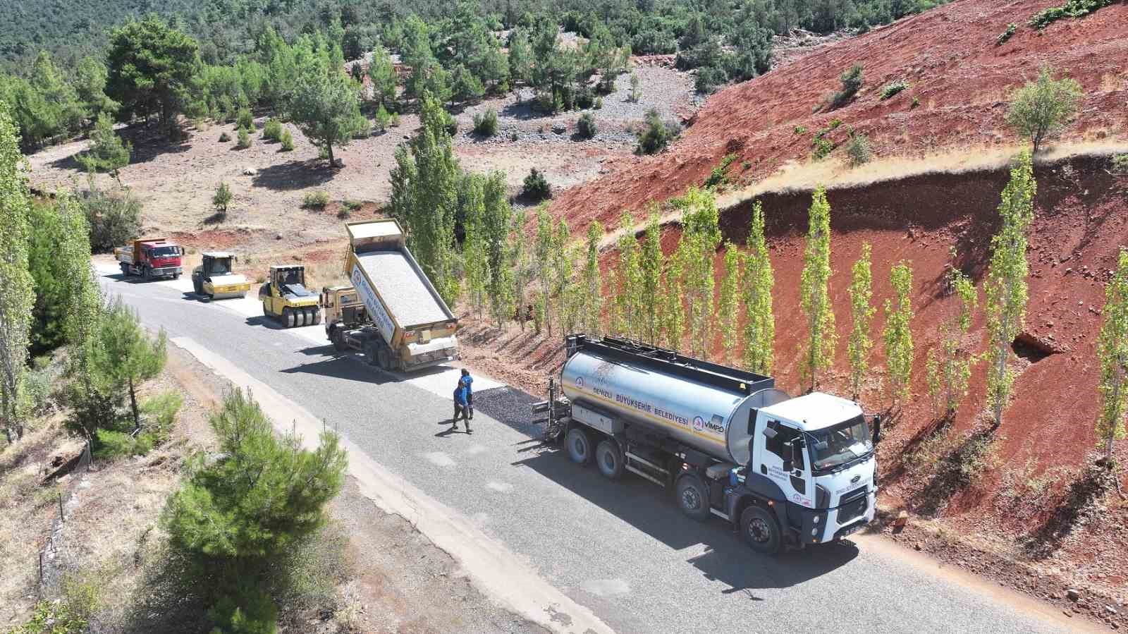
<instances>
[{"instance_id":1,"label":"white front cab of the silver tanker truck","mask_svg":"<svg viewBox=\"0 0 1128 634\"><path fill-rule=\"evenodd\" d=\"M811 393L757 410L750 449L748 466L734 473L734 488L769 494L778 487L768 496L784 497L785 512L776 508L776 520L794 545L835 541L873 520L876 459L856 403ZM732 514L743 514L749 502L737 493ZM751 546L772 540L763 526L740 523Z\"/></svg>"}]
</instances>

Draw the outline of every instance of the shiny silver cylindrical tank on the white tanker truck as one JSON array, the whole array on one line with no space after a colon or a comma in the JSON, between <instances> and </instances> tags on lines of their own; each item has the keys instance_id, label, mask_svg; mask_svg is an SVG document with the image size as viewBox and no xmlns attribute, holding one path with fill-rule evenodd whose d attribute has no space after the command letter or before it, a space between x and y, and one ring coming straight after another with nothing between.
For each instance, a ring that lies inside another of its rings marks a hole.
<instances>
[{"instance_id":1,"label":"shiny silver cylindrical tank on the white tanker truck","mask_svg":"<svg viewBox=\"0 0 1128 634\"><path fill-rule=\"evenodd\" d=\"M747 395L587 351L564 363L561 385L573 403L666 432L735 465L746 465L750 458L754 410L788 398L774 388Z\"/></svg>"}]
</instances>

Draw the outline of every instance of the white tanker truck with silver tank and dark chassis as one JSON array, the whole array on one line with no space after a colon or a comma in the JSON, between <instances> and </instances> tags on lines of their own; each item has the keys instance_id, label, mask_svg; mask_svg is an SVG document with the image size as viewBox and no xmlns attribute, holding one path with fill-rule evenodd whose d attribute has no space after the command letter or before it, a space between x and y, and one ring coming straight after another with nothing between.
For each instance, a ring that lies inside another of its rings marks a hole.
<instances>
[{"instance_id":1,"label":"white tanker truck with silver tank and dark chassis","mask_svg":"<svg viewBox=\"0 0 1128 634\"><path fill-rule=\"evenodd\" d=\"M566 351L534 412L573 463L671 486L687 516L730 521L760 553L873 520L880 420L871 437L853 400L791 398L769 377L628 340L571 335Z\"/></svg>"}]
</instances>

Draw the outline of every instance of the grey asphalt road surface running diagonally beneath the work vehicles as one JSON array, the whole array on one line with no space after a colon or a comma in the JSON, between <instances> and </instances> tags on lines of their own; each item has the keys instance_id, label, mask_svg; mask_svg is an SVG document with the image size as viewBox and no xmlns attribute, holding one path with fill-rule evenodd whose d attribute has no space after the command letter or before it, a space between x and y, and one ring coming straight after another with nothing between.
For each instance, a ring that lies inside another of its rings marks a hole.
<instances>
[{"instance_id":1,"label":"grey asphalt road surface running diagonally beneath the work vehicles","mask_svg":"<svg viewBox=\"0 0 1128 634\"><path fill-rule=\"evenodd\" d=\"M720 519L684 517L661 488L607 482L540 447L527 395L477 378L474 433L450 433L451 371L381 373L336 353L321 326L283 331L263 318L257 288L244 300L204 302L186 275L146 283L108 268L99 268L104 288L147 326L190 337L338 426L617 632L1068 631L1048 609L987 582L955 582L874 547L880 537L757 555Z\"/></svg>"}]
</instances>

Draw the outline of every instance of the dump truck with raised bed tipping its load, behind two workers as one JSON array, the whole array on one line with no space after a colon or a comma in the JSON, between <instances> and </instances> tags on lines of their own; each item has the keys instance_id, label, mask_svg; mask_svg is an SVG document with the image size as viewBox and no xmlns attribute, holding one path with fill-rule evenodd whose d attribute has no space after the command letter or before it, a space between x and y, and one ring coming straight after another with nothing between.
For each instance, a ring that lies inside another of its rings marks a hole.
<instances>
[{"instance_id":1,"label":"dump truck with raised bed tipping its load, behind two workers","mask_svg":"<svg viewBox=\"0 0 1128 634\"><path fill-rule=\"evenodd\" d=\"M458 319L412 256L395 220L349 222L351 287L321 290L325 334L384 370L407 372L458 359Z\"/></svg>"}]
</instances>

